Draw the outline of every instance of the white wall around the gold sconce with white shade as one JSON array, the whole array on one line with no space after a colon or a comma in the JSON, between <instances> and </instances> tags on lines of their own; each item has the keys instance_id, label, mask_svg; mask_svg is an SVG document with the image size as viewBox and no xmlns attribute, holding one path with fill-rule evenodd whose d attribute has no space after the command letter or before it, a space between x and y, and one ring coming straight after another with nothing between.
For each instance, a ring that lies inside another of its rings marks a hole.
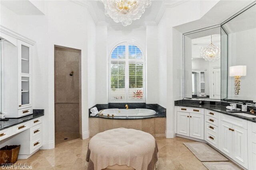
<instances>
[{"instance_id":1,"label":"white wall around the gold sconce with white shade","mask_svg":"<svg viewBox=\"0 0 256 170\"><path fill-rule=\"evenodd\" d=\"M240 92L234 94L234 77L228 76L228 99L256 101L255 64L256 29L249 29L228 35L228 68L246 65L246 76L240 78Z\"/></svg>"}]
</instances>

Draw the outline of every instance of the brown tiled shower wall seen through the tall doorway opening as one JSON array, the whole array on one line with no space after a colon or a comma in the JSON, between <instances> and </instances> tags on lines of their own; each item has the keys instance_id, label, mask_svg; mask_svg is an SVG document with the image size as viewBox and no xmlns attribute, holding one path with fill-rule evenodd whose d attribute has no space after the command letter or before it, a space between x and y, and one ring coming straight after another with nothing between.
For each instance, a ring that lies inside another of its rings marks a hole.
<instances>
[{"instance_id":1,"label":"brown tiled shower wall seen through the tall doorway opening","mask_svg":"<svg viewBox=\"0 0 256 170\"><path fill-rule=\"evenodd\" d=\"M77 133L79 137L80 51L55 47L55 132ZM73 76L70 72L74 71Z\"/></svg>"}]
</instances>

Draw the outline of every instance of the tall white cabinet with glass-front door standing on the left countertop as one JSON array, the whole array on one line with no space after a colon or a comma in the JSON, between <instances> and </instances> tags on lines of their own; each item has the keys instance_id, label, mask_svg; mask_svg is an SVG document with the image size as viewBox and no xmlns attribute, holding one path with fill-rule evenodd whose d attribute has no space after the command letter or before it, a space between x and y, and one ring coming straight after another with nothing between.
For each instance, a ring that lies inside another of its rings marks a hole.
<instances>
[{"instance_id":1,"label":"tall white cabinet with glass-front door standing on the left countertop","mask_svg":"<svg viewBox=\"0 0 256 170\"><path fill-rule=\"evenodd\" d=\"M2 112L7 118L32 113L32 47L19 39L16 44L2 41Z\"/></svg>"}]
</instances>

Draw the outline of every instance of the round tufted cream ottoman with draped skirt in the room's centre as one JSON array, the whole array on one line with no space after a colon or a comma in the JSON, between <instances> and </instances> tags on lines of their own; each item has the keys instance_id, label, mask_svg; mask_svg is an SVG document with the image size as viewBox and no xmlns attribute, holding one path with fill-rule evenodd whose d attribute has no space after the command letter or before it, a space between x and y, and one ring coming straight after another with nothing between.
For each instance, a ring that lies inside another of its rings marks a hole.
<instances>
[{"instance_id":1,"label":"round tufted cream ottoman with draped skirt in the room's centre","mask_svg":"<svg viewBox=\"0 0 256 170\"><path fill-rule=\"evenodd\" d=\"M135 129L111 129L90 139L88 170L154 170L158 162L156 141Z\"/></svg>"}]
</instances>

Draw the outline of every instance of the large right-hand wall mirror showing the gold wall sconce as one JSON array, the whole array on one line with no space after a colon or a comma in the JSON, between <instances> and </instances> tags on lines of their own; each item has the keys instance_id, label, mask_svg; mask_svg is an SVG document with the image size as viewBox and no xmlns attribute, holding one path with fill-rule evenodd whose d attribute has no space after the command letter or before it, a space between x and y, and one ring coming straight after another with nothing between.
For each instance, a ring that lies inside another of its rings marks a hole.
<instances>
[{"instance_id":1,"label":"large right-hand wall mirror showing the gold wall sconce","mask_svg":"<svg viewBox=\"0 0 256 170\"><path fill-rule=\"evenodd\" d=\"M256 102L256 3L221 27L222 99Z\"/></svg>"}]
</instances>

